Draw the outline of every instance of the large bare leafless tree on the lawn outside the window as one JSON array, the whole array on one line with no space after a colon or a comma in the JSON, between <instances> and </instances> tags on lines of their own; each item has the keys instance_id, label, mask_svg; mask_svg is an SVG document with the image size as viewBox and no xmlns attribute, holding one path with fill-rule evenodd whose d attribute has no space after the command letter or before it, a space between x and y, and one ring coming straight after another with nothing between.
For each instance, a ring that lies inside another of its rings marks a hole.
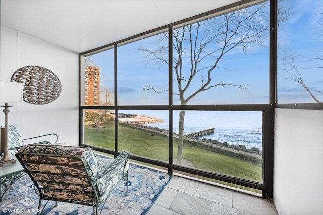
<instances>
[{"instance_id":1,"label":"large bare leafless tree on the lawn outside the window","mask_svg":"<svg viewBox=\"0 0 323 215\"><path fill-rule=\"evenodd\" d=\"M248 85L226 83L217 78L218 72L227 71L221 63L230 53L247 53L254 45L262 45L268 37L268 3L234 11L219 17L189 24L173 30L174 97L186 105L194 96L214 87L236 87L248 91ZM146 53L147 63L169 64L167 40L164 33L156 41L156 49L140 47ZM239 65L237 65L239 68ZM147 85L143 91L156 93L165 87ZM177 164L182 163L185 111L179 116Z\"/></svg>"}]
</instances>

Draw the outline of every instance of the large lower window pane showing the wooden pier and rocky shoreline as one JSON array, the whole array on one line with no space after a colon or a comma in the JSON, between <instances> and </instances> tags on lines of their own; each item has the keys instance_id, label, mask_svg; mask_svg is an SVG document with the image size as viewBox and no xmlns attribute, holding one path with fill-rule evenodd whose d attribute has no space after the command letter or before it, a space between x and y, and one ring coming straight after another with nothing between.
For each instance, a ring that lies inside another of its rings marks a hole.
<instances>
[{"instance_id":1,"label":"large lower window pane showing the wooden pier and rocky shoreline","mask_svg":"<svg viewBox=\"0 0 323 215\"><path fill-rule=\"evenodd\" d=\"M175 111L173 126L174 164L262 182L261 111Z\"/></svg>"}]
</instances>

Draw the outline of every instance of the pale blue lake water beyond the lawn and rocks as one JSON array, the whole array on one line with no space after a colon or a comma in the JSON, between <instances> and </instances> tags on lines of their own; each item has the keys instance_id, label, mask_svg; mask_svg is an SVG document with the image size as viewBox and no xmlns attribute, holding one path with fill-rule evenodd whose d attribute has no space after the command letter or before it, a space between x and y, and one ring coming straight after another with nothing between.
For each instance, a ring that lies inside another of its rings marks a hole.
<instances>
[{"instance_id":1,"label":"pale blue lake water beyond the lawn and rocks","mask_svg":"<svg viewBox=\"0 0 323 215\"><path fill-rule=\"evenodd\" d=\"M146 126L169 130L168 111L120 111L119 113L137 114L163 119L161 123L144 124ZM180 111L174 111L173 131L178 133ZM200 136L228 142L230 145L257 147L262 150L262 112L261 111L186 111L184 133L214 128L214 133Z\"/></svg>"}]
</instances>

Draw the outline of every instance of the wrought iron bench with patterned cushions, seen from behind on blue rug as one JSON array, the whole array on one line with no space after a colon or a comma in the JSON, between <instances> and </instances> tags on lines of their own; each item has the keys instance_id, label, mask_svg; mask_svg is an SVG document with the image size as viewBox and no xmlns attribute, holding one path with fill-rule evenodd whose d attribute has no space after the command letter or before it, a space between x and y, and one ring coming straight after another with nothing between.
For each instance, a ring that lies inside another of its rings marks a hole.
<instances>
[{"instance_id":1,"label":"wrought iron bench with patterned cushions, seen from behind on blue rug","mask_svg":"<svg viewBox=\"0 0 323 215\"><path fill-rule=\"evenodd\" d=\"M103 164L89 147L36 144L22 147L16 157L39 192L38 211L44 199L90 205L98 214L121 180L128 194L130 151Z\"/></svg>"}]
</instances>

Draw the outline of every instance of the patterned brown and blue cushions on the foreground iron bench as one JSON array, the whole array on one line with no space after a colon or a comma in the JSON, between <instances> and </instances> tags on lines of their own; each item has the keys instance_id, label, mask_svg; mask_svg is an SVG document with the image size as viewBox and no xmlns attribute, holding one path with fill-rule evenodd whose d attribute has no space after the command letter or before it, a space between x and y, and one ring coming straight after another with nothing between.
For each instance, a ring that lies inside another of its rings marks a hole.
<instances>
[{"instance_id":1,"label":"patterned brown and blue cushions on the foreground iron bench","mask_svg":"<svg viewBox=\"0 0 323 215\"><path fill-rule=\"evenodd\" d=\"M20 151L22 152L25 147ZM51 148L45 145L35 147ZM122 159L108 174L103 175L105 167L114 163L115 159L98 159L89 147L55 146L55 148L78 156L61 156L55 153L50 156L50 151L49 155L19 154L21 159L26 161L26 167L33 171L32 176L38 181L39 186L46 188L43 189L43 195L50 198L94 203L96 201L94 187L100 202L123 179L124 173L129 168L129 165L124 168L126 159Z\"/></svg>"}]
</instances>

